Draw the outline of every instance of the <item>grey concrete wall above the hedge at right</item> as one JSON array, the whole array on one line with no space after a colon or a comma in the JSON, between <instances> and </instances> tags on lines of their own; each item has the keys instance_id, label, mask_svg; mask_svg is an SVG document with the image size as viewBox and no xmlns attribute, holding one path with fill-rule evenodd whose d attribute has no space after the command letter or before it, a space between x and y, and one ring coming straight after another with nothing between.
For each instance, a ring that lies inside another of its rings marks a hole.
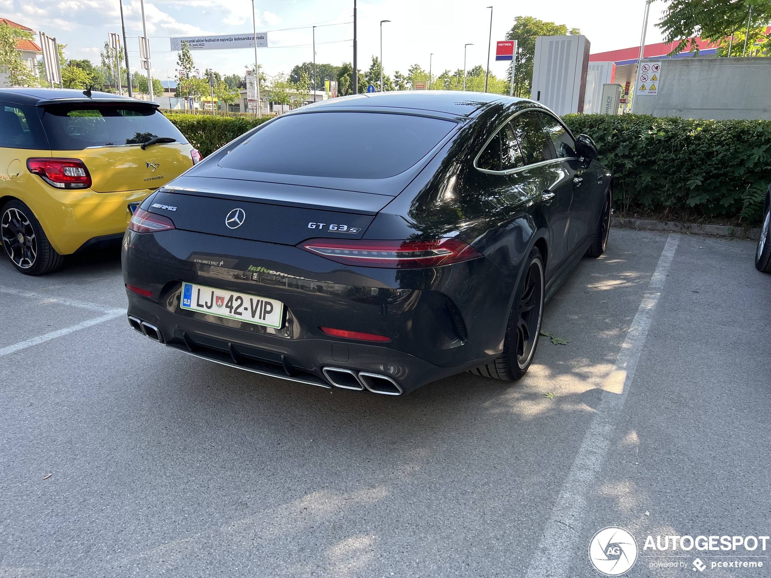
<instances>
[{"instance_id":1,"label":"grey concrete wall above the hedge at right","mask_svg":"<svg viewBox=\"0 0 771 578\"><path fill-rule=\"evenodd\" d=\"M771 119L771 58L661 62L658 94L635 94L635 113L686 119Z\"/></svg>"}]
</instances>

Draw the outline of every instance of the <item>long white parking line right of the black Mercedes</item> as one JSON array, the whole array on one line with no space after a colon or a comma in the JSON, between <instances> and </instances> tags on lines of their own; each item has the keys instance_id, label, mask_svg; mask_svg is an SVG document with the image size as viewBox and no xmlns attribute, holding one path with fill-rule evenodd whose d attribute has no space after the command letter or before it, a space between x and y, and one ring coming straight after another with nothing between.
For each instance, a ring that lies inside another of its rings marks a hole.
<instances>
[{"instance_id":1,"label":"long white parking line right of the black Mercedes","mask_svg":"<svg viewBox=\"0 0 771 578\"><path fill-rule=\"evenodd\" d=\"M588 543L579 544L581 526L586 509L586 492L602 468L605 454L608 452L611 434L631 385L635 378L637 362L640 359L648 329L661 297L664 281L672 257L675 256L679 237L670 234L658 259L658 264L648 285L648 291L642 298L640 307L624 344L608 378L608 387L604 391L597 412L589 425L588 431L578 449L575 462L564 481L560 496L551 512L551 517L544 528L544 537L538 544L534 560L527 570L527 578L562 578L571 573L571 560L575 549L588 548ZM611 393L621 386L621 391ZM610 390L610 391L607 391Z\"/></svg>"}]
</instances>

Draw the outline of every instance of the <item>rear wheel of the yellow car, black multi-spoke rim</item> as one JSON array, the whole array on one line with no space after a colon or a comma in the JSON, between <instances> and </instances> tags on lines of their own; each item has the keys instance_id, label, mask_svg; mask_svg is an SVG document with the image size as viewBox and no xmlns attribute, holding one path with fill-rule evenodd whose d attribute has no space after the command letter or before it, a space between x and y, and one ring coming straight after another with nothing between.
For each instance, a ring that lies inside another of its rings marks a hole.
<instances>
[{"instance_id":1,"label":"rear wheel of the yellow car, black multi-spoke rim","mask_svg":"<svg viewBox=\"0 0 771 578\"><path fill-rule=\"evenodd\" d=\"M52 273L64 264L29 207L20 200L5 203L0 213L0 237L5 256L25 275Z\"/></svg>"}]
</instances>

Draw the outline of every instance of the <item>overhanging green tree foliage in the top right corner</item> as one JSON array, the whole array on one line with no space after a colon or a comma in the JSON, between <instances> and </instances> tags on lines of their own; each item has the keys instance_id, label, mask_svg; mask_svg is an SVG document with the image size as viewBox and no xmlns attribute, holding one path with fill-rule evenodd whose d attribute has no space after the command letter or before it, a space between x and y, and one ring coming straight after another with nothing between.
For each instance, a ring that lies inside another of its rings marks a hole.
<instances>
[{"instance_id":1,"label":"overhanging green tree foliage in the top right corner","mask_svg":"<svg viewBox=\"0 0 771 578\"><path fill-rule=\"evenodd\" d=\"M664 18L656 26L664 33L665 42L676 42L671 54L685 49L698 54L699 47L694 42L696 36L725 45L727 50L731 35L734 35L736 44L736 34L739 33L742 42L738 55L741 55L747 23L750 22L750 33L753 34L761 28L764 31L769 20L771 0L671 0ZM754 29L752 23L755 24ZM737 55L734 50L731 54Z\"/></svg>"}]
</instances>

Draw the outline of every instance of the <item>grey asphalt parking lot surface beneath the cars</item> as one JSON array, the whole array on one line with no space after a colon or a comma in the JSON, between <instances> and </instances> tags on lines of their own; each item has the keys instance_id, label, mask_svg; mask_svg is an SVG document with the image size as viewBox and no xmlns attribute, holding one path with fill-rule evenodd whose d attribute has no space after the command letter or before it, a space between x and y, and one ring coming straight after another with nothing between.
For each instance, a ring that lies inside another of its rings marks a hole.
<instances>
[{"instance_id":1,"label":"grey asphalt parking lot surface beneath the cars","mask_svg":"<svg viewBox=\"0 0 771 578\"><path fill-rule=\"evenodd\" d=\"M729 553L652 567L645 536L771 529L754 250L611 230L547 304L569 344L542 339L518 383L460 374L399 398L143 338L117 254L45 277L4 259L0 576L601 576L605 526L637 539L628 576L694 576ZM730 553L763 569L708 573L771 576L766 548Z\"/></svg>"}]
</instances>

